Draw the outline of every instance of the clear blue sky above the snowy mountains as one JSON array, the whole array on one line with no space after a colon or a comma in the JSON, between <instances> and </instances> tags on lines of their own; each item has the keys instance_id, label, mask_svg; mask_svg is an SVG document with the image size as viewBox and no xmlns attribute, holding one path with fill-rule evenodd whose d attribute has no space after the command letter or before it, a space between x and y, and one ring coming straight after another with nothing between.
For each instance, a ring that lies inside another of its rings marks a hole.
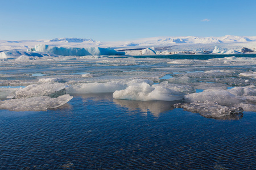
<instances>
[{"instance_id":1,"label":"clear blue sky above the snowy mountains","mask_svg":"<svg viewBox=\"0 0 256 170\"><path fill-rule=\"evenodd\" d=\"M0 0L0 40L256 36L255 0Z\"/></svg>"}]
</instances>

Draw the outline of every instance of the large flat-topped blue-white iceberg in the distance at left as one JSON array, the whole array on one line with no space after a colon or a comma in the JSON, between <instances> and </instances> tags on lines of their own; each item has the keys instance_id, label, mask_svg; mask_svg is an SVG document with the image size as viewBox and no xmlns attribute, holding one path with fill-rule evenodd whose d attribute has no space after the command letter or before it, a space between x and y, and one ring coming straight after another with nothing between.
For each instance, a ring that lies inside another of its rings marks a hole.
<instances>
[{"instance_id":1,"label":"large flat-topped blue-white iceberg in the distance at left","mask_svg":"<svg viewBox=\"0 0 256 170\"><path fill-rule=\"evenodd\" d=\"M35 52L44 52L57 54L60 56L101 56L101 55L109 55L109 56L121 56L125 55L125 52L117 52L113 49L108 48L100 48L100 47L85 47L85 48L75 48L75 47L57 47L57 46L49 46L45 44L36 45L35 48L30 49L29 51Z\"/></svg>"}]
</instances>

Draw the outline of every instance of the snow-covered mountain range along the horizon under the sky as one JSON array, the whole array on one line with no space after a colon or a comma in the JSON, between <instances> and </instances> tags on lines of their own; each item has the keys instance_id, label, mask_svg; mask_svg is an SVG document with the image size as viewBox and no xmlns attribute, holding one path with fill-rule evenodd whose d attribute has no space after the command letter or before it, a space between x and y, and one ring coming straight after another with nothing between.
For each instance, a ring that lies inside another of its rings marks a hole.
<instances>
[{"instance_id":1,"label":"snow-covered mountain range along the horizon under the sky","mask_svg":"<svg viewBox=\"0 0 256 170\"><path fill-rule=\"evenodd\" d=\"M237 43L256 42L256 36L232 36L226 35L223 37L195 37L195 36L181 36L181 37L150 37L145 39L130 40L130 41L108 41L100 42L93 39L79 39L79 38L56 38L51 40L19 40L7 41L0 40L0 51L11 49L29 49L37 44L46 44L53 46L64 47L96 47L102 48L144 48L145 46L170 46L170 45L198 45L198 44L237 44Z\"/></svg>"}]
</instances>

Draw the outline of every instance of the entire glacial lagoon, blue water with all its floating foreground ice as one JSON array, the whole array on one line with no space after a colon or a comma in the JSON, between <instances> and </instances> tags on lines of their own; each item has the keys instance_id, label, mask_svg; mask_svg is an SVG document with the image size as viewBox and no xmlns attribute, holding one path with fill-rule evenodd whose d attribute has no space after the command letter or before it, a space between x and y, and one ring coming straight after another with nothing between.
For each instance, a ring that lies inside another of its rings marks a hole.
<instances>
[{"instance_id":1,"label":"entire glacial lagoon, blue water with all its floating foreground ice","mask_svg":"<svg viewBox=\"0 0 256 170\"><path fill-rule=\"evenodd\" d=\"M209 56L0 61L1 168L255 169L256 58Z\"/></svg>"}]
</instances>

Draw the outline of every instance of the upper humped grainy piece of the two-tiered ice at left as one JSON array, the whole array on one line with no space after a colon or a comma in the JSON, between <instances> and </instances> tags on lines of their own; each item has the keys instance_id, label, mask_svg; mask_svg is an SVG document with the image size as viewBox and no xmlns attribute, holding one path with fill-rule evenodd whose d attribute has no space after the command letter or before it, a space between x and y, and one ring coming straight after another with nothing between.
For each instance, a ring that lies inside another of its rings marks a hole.
<instances>
[{"instance_id":1,"label":"upper humped grainy piece of the two-tiered ice at left","mask_svg":"<svg viewBox=\"0 0 256 170\"><path fill-rule=\"evenodd\" d=\"M31 84L15 92L15 96L10 98L20 99L35 96L49 96L58 97L66 94L67 84L63 83L44 83L44 84Z\"/></svg>"}]
</instances>

